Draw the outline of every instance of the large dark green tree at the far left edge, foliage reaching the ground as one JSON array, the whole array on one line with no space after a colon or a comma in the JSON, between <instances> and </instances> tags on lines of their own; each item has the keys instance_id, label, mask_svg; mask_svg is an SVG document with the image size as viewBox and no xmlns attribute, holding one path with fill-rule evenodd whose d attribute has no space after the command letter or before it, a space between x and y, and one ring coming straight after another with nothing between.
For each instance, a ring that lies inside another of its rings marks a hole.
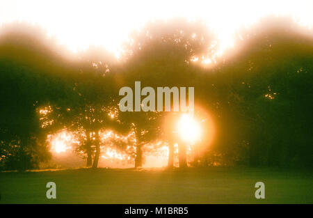
<instances>
[{"instance_id":1,"label":"large dark green tree at the far left edge, foliage reaching the ground","mask_svg":"<svg viewBox=\"0 0 313 218\"><path fill-rule=\"evenodd\" d=\"M68 74L58 73L65 61L47 46L40 29L26 26L31 35L15 27L0 38L1 162L7 169L31 169L49 158L37 108L66 96L62 81Z\"/></svg>"}]
</instances>

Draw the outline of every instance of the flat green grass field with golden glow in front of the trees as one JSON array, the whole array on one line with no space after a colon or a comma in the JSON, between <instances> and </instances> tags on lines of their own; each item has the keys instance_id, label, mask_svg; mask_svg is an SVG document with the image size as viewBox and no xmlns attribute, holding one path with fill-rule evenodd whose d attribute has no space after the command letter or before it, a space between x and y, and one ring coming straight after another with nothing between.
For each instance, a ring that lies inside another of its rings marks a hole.
<instances>
[{"instance_id":1,"label":"flat green grass field with golden glow in front of the trees","mask_svg":"<svg viewBox=\"0 0 313 218\"><path fill-rule=\"evenodd\" d=\"M56 182L56 199L46 198ZM255 198L255 182L265 199ZM72 169L0 173L0 203L313 203L313 175L273 169Z\"/></svg>"}]
</instances>

